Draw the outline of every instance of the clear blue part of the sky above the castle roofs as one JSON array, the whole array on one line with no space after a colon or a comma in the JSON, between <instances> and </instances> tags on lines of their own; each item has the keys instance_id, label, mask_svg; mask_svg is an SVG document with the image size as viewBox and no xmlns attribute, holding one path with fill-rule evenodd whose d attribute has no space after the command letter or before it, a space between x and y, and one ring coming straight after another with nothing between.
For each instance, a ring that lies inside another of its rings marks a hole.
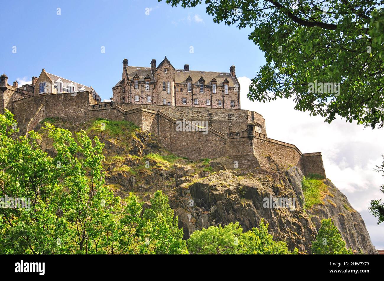
<instances>
[{"instance_id":1,"label":"clear blue part of the sky above the castle roofs","mask_svg":"<svg viewBox=\"0 0 384 281\"><path fill-rule=\"evenodd\" d=\"M238 76L248 77L264 62L263 54L247 39L248 31L213 23L202 5L171 8L156 0L7 1L2 5L7 11L2 13L7 36L0 46L0 71L6 72L10 82L39 76L44 68L92 86L108 99L121 77L124 58L132 66L150 66L152 59L159 64L167 56L176 68L189 64L191 70L205 71L229 72L234 64ZM13 46L17 53L12 53Z\"/></svg>"}]
</instances>

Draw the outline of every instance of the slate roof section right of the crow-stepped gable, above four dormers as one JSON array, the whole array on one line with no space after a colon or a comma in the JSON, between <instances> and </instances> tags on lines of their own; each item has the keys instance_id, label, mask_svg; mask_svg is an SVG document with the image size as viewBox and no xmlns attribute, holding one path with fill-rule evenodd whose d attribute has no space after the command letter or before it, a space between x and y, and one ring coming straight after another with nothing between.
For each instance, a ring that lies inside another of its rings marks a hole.
<instances>
[{"instance_id":1,"label":"slate roof section right of the crow-stepped gable, above four dormers","mask_svg":"<svg viewBox=\"0 0 384 281\"><path fill-rule=\"evenodd\" d=\"M184 71L178 69L175 72L175 84L186 84L188 78L192 79L193 84L199 84L201 78L204 79L205 85L210 85L211 82L216 82L218 86L223 86L223 82L228 82L229 87L235 87L237 84L236 78L232 77L229 72L212 72L212 71ZM202 81L201 81L202 82Z\"/></svg>"}]
</instances>

